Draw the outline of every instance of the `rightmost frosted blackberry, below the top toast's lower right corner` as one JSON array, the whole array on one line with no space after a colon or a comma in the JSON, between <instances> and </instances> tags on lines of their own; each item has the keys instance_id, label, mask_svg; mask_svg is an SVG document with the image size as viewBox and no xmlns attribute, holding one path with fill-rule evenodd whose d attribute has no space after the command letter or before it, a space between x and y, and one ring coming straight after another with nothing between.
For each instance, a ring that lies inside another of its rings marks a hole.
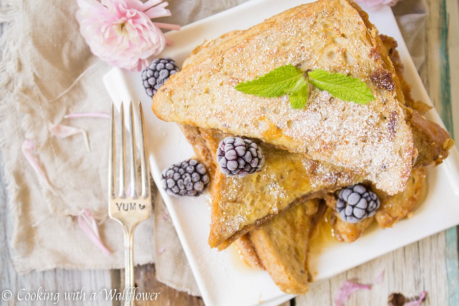
<instances>
[{"instance_id":1,"label":"rightmost frosted blackberry, below the top toast's lower right corner","mask_svg":"<svg viewBox=\"0 0 459 306\"><path fill-rule=\"evenodd\" d=\"M341 189L336 210L343 221L357 223L374 215L379 208L378 196L363 185L352 185Z\"/></svg>"}]
</instances>

